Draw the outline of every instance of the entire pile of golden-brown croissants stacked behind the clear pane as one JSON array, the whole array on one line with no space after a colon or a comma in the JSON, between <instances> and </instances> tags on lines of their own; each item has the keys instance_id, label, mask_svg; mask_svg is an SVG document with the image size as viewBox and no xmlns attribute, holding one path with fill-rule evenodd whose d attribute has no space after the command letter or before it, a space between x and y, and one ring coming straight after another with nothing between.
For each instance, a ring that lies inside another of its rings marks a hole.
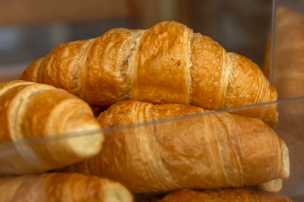
<instances>
[{"instance_id":1,"label":"entire pile of golden-brown croissants stacked behind the clear pane","mask_svg":"<svg viewBox=\"0 0 304 202\"><path fill-rule=\"evenodd\" d=\"M63 44L0 83L0 201L292 202L276 100L175 21Z\"/></svg>"}]
</instances>

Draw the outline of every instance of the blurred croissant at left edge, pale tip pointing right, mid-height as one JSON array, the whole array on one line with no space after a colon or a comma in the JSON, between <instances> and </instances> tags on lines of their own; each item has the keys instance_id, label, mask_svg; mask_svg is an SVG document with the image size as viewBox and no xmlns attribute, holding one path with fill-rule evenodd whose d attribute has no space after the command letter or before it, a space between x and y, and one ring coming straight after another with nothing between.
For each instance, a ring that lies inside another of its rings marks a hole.
<instances>
[{"instance_id":1,"label":"blurred croissant at left edge, pale tip pointing right, mid-height","mask_svg":"<svg viewBox=\"0 0 304 202\"><path fill-rule=\"evenodd\" d=\"M0 175L48 171L101 150L90 106L50 85L0 83L0 120Z\"/></svg>"}]
</instances>

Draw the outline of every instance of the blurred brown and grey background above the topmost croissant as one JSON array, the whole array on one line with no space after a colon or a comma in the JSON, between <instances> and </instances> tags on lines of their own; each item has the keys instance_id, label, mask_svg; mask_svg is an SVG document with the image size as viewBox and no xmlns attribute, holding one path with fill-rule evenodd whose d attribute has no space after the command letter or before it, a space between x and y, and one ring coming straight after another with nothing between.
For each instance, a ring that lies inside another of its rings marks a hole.
<instances>
[{"instance_id":1,"label":"blurred brown and grey background above the topmost croissant","mask_svg":"<svg viewBox=\"0 0 304 202\"><path fill-rule=\"evenodd\" d=\"M163 20L184 23L262 66L271 6L271 0L0 0L0 81L18 78L60 44Z\"/></svg>"}]
</instances>

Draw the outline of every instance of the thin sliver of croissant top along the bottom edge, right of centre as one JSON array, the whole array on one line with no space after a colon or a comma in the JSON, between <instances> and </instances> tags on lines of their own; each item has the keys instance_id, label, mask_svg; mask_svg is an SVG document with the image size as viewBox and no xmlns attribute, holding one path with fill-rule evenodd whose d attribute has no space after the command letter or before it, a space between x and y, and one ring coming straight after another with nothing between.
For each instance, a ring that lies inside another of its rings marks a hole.
<instances>
[{"instance_id":1,"label":"thin sliver of croissant top along the bottom edge, right of centre","mask_svg":"<svg viewBox=\"0 0 304 202\"><path fill-rule=\"evenodd\" d=\"M279 193L257 191L248 187L217 190L180 189L170 192L159 202L293 202Z\"/></svg>"}]
</instances>

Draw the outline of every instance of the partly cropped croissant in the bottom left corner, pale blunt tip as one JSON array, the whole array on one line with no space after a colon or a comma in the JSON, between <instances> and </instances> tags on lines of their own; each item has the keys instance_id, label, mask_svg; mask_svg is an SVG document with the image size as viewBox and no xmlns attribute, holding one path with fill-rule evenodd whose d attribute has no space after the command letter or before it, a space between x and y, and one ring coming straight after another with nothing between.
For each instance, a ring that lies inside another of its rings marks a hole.
<instances>
[{"instance_id":1,"label":"partly cropped croissant in the bottom left corner, pale blunt tip","mask_svg":"<svg viewBox=\"0 0 304 202\"><path fill-rule=\"evenodd\" d=\"M1 202L133 202L118 182L81 174L45 173L0 178Z\"/></svg>"}]
</instances>

